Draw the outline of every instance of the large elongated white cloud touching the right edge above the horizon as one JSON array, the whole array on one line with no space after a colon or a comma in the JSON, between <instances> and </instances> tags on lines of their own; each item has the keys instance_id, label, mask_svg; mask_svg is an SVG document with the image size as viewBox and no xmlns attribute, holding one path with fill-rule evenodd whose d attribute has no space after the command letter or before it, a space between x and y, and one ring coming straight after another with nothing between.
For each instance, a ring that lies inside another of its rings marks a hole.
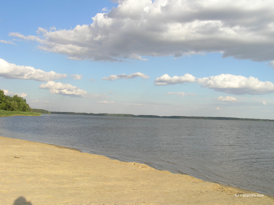
<instances>
[{"instance_id":1,"label":"large elongated white cloud touching the right edge above the horizon","mask_svg":"<svg viewBox=\"0 0 274 205\"><path fill-rule=\"evenodd\" d=\"M241 75L221 74L198 78L198 83L202 84L202 87L237 95L274 93L274 84L272 82L262 82L252 76L246 78Z\"/></svg>"}]
</instances>

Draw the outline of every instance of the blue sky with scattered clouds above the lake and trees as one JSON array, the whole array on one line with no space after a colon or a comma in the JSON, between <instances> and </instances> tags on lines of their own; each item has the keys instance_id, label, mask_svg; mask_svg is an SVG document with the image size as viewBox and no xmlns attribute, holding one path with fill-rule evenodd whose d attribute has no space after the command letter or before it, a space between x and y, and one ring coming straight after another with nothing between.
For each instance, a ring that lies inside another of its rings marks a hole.
<instances>
[{"instance_id":1,"label":"blue sky with scattered clouds above the lake and trees","mask_svg":"<svg viewBox=\"0 0 274 205\"><path fill-rule=\"evenodd\" d=\"M272 0L0 0L0 89L60 112L274 119Z\"/></svg>"}]
</instances>

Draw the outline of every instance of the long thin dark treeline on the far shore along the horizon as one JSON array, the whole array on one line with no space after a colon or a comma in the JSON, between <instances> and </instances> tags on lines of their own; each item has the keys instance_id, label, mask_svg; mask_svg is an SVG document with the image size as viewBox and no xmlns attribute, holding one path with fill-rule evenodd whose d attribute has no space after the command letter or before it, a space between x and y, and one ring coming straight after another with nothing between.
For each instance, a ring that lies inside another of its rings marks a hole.
<instances>
[{"instance_id":1,"label":"long thin dark treeline on the far shore along the horizon","mask_svg":"<svg viewBox=\"0 0 274 205\"><path fill-rule=\"evenodd\" d=\"M197 116L158 116L158 115L132 115L132 114L109 114L109 113L86 113L86 112L50 112L51 114L62 115L93 115L111 117L141 117L141 118L175 118L175 119L220 119L220 120L249 120L249 121L274 121L273 119L253 118L231 118L231 117L197 117Z\"/></svg>"}]
</instances>

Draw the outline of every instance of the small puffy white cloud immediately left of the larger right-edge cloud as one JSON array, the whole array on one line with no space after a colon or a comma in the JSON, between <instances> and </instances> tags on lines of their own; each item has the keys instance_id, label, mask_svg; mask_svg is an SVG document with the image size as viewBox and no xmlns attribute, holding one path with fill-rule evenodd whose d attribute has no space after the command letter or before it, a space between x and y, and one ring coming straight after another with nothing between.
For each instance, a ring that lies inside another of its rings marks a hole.
<instances>
[{"instance_id":1,"label":"small puffy white cloud immediately left of the larger right-edge cloud","mask_svg":"<svg viewBox=\"0 0 274 205\"><path fill-rule=\"evenodd\" d=\"M173 84L182 84L185 82L196 82L196 78L193 75L186 73L184 76L173 76L170 77L167 74L162 75L155 79L154 84L157 86L173 85Z\"/></svg>"}]
</instances>

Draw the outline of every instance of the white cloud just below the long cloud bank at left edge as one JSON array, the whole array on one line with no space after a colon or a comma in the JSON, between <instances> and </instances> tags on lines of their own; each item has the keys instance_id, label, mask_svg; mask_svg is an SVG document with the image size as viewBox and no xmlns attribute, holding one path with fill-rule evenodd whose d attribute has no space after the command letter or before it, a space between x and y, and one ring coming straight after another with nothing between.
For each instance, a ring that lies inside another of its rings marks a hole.
<instances>
[{"instance_id":1,"label":"white cloud just below the long cloud bank at left edge","mask_svg":"<svg viewBox=\"0 0 274 205\"><path fill-rule=\"evenodd\" d=\"M48 81L45 84L39 86L40 89L50 90L52 94L68 95L71 97L90 98L92 95L85 90L81 90L78 87L71 84L63 84L61 82Z\"/></svg>"}]
</instances>

